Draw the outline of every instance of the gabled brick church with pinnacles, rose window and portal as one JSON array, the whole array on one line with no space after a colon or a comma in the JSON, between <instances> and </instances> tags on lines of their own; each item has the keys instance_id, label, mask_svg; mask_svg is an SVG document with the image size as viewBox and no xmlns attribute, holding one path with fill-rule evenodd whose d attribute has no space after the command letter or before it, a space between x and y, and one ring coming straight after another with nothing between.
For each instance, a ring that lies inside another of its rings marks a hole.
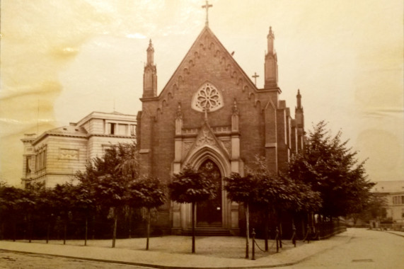
<instances>
[{"instance_id":1,"label":"gabled brick church with pinnacles, rose window and portal","mask_svg":"<svg viewBox=\"0 0 404 269\"><path fill-rule=\"evenodd\" d=\"M277 173L304 144L304 113L298 91L294 118L280 99L275 35L270 28L265 55L265 86L257 88L219 39L205 25L171 79L157 94L154 48L144 67L137 142L143 174L168 183L190 164L212 172L222 185L232 172L243 175L255 156L264 156ZM197 227L238 234L241 206L219 190L218 198L197 205ZM188 204L167 202L158 225L171 234L189 229Z\"/></svg>"}]
</instances>

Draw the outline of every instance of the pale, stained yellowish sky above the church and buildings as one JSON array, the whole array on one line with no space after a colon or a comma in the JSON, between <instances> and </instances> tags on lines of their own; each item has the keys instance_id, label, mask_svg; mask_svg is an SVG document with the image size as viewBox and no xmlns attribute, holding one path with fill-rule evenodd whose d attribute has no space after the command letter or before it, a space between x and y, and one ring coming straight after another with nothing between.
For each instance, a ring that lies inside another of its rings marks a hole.
<instances>
[{"instance_id":1,"label":"pale, stained yellowish sky above the church and buildings","mask_svg":"<svg viewBox=\"0 0 404 269\"><path fill-rule=\"evenodd\" d=\"M92 111L136 115L149 39L160 93L204 28L203 4L1 1L0 181L20 185L24 134ZM369 180L404 180L403 1L209 4L209 28L246 74L259 75L258 88L272 26L281 98L294 111L300 89L306 130L325 120L366 160Z\"/></svg>"}]
</instances>

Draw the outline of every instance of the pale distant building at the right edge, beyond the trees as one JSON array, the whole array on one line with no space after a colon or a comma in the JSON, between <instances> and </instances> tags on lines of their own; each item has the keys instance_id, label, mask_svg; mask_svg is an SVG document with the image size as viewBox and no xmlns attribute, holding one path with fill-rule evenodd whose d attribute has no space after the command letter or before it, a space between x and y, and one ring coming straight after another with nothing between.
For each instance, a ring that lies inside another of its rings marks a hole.
<instances>
[{"instance_id":1,"label":"pale distant building at the right edge, beyond the trees","mask_svg":"<svg viewBox=\"0 0 404 269\"><path fill-rule=\"evenodd\" d=\"M371 190L386 197L386 219L404 225L404 181L379 181Z\"/></svg>"}]
</instances>

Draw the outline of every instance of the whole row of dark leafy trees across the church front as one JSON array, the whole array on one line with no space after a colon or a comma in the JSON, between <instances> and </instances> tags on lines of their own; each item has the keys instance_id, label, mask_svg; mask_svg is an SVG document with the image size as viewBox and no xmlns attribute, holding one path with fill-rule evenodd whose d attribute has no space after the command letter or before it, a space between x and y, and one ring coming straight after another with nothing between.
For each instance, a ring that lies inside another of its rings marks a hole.
<instances>
[{"instance_id":1,"label":"whole row of dark leafy trees across the church front","mask_svg":"<svg viewBox=\"0 0 404 269\"><path fill-rule=\"evenodd\" d=\"M282 238L282 223L295 227L295 221L303 221L299 237L304 239L309 231L310 236L315 235L314 231L317 236L322 230L324 234L321 224L325 221L332 223L335 217L374 210L369 192L374 183L367 180L364 162L359 162L356 151L341 141L341 132L333 136L326 127L325 122L313 126L304 150L292 156L285 171L271 173L265 159L256 157L248 161L243 175L232 173L224 178L227 197L243 205L241 212L246 217L241 228L246 232L246 258L251 224L265 239L267 250L270 233L277 231ZM86 245L88 234L91 239L112 234L115 247L117 236L144 236L146 230L148 249L151 218L156 216L153 212L168 202L168 193L174 202L192 204L194 253L195 205L213 199L217 186L209 174L190 166L164 185L157 178L139 174L137 156L136 144L118 144L88 164L86 171L78 172L78 183L52 189L33 184L25 190L1 185L1 239L65 241L69 236L84 239Z\"/></svg>"}]
</instances>

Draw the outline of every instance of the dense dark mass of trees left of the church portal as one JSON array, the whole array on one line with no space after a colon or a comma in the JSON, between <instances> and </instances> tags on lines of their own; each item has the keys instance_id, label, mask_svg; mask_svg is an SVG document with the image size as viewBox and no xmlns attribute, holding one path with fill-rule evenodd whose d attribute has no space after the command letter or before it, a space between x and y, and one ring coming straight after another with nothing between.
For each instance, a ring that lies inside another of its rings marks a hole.
<instances>
[{"instance_id":1,"label":"dense dark mass of trees left of the church portal","mask_svg":"<svg viewBox=\"0 0 404 269\"><path fill-rule=\"evenodd\" d=\"M26 189L0 188L2 239L91 239L109 237L112 247L117 238L118 219L122 222L120 237L144 236L149 248L151 212L166 200L165 186L157 178L138 173L135 144L118 144L105 151L76 173L77 184L71 182L44 188L32 184ZM46 227L46 228L45 228ZM112 227L112 229L111 229ZM68 235L68 231L71 234Z\"/></svg>"}]
</instances>

